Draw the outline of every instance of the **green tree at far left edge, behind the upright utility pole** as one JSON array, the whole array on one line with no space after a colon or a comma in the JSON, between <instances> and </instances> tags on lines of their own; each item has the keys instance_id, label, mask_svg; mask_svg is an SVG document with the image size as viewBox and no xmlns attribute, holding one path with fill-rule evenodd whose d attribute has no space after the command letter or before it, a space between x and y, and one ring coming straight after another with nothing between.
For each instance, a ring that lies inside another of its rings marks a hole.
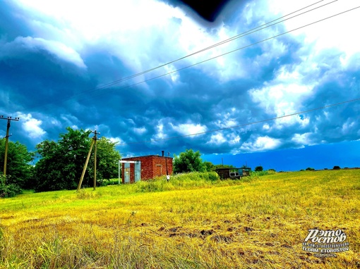
<instances>
[{"instance_id":1,"label":"green tree at far left edge, behind the upright utility pole","mask_svg":"<svg viewBox=\"0 0 360 269\"><path fill-rule=\"evenodd\" d=\"M4 171L5 139L0 140L0 169ZM32 184L32 171L35 153L28 151L19 142L8 142L8 158L6 165L6 184L16 184L23 189L29 189Z\"/></svg>"}]
</instances>

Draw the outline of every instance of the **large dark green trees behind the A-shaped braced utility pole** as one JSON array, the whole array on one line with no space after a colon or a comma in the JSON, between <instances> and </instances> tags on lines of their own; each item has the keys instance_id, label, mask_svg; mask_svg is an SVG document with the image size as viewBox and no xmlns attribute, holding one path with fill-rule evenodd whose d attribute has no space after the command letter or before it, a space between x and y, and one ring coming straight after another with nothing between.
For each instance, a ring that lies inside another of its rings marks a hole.
<instances>
[{"instance_id":1,"label":"large dark green trees behind the A-shaped braced utility pole","mask_svg":"<svg viewBox=\"0 0 360 269\"><path fill-rule=\"evenodd\" d=\"M91 139L90 131L73 130L67 127L66 134L60 134L59 142L45 140L37 144L40 160L35 165L35 191L76 189L83 173ZM97 142L97 180L117 175L117 161L120 154L115 151L116 143L101 138ZM94 149L92 149L94 151ZM92 157L93 158L93 157ZM92 186L94 179L93 161L88 164L83 186ZM116 173L115 173L116 171Z\"/></svg>"}]
</instances>

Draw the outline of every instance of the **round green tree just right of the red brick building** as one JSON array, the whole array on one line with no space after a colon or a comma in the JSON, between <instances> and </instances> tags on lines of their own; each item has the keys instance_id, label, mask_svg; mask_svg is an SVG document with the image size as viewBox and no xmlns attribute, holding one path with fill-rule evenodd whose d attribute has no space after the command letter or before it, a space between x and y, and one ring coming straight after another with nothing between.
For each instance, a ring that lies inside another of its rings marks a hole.
<instances>
[{"instance_id":1,"label":"round green tree just right of the red brick building","mask_svg":"<svg viewBox=\"0 0 360 269\"><path fill-rule=\"evenodd\" d=\"M206 167L200 155L200 151L194 152L192 149L186 149L179 156L174 155L174 173L204 172Z\"/></svg>"}]
</instances>

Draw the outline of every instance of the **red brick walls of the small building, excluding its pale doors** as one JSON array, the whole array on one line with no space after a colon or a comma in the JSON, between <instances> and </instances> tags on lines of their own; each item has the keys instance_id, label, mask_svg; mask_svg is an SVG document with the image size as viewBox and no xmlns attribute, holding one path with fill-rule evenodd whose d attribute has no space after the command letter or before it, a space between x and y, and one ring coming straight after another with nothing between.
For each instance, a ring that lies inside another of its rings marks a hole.
<instances>
[{"instance_id":1,"label":"red brick walls of the small building, excluding its pale doors","mask_svg":"<svg viewBox=\"0 0 360 269\"><path fill-rule=\"evenodd\" d=\"M163 156L140 156L123 158L122 161L140 161L141 162L141 180L150 180L160 175L172 175L172 158ZM124 163L122 163L124 171ZM135 182L135 164L130 163L130 182ZM122 175L124 183L124 173Z\"/></svg>"}]
</instances>

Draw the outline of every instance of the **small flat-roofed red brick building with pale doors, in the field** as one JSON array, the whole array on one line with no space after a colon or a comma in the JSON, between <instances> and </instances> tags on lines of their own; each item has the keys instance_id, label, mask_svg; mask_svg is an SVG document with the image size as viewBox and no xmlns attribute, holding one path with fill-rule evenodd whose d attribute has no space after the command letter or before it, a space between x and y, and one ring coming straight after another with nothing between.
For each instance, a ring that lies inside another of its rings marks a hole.
<instances>
[{"instance_id":1,"label":"small flat-roofed red brick building with pale doors, in the field","mask_svg":"<svg viewBox=\"0 0 360 269\"><path fill-rule=\"evenodd\" d=\"M150 180L161 175L172 175L172 157L149 155L121 159L122 182Z\"/></svg>"}]
</instances>

